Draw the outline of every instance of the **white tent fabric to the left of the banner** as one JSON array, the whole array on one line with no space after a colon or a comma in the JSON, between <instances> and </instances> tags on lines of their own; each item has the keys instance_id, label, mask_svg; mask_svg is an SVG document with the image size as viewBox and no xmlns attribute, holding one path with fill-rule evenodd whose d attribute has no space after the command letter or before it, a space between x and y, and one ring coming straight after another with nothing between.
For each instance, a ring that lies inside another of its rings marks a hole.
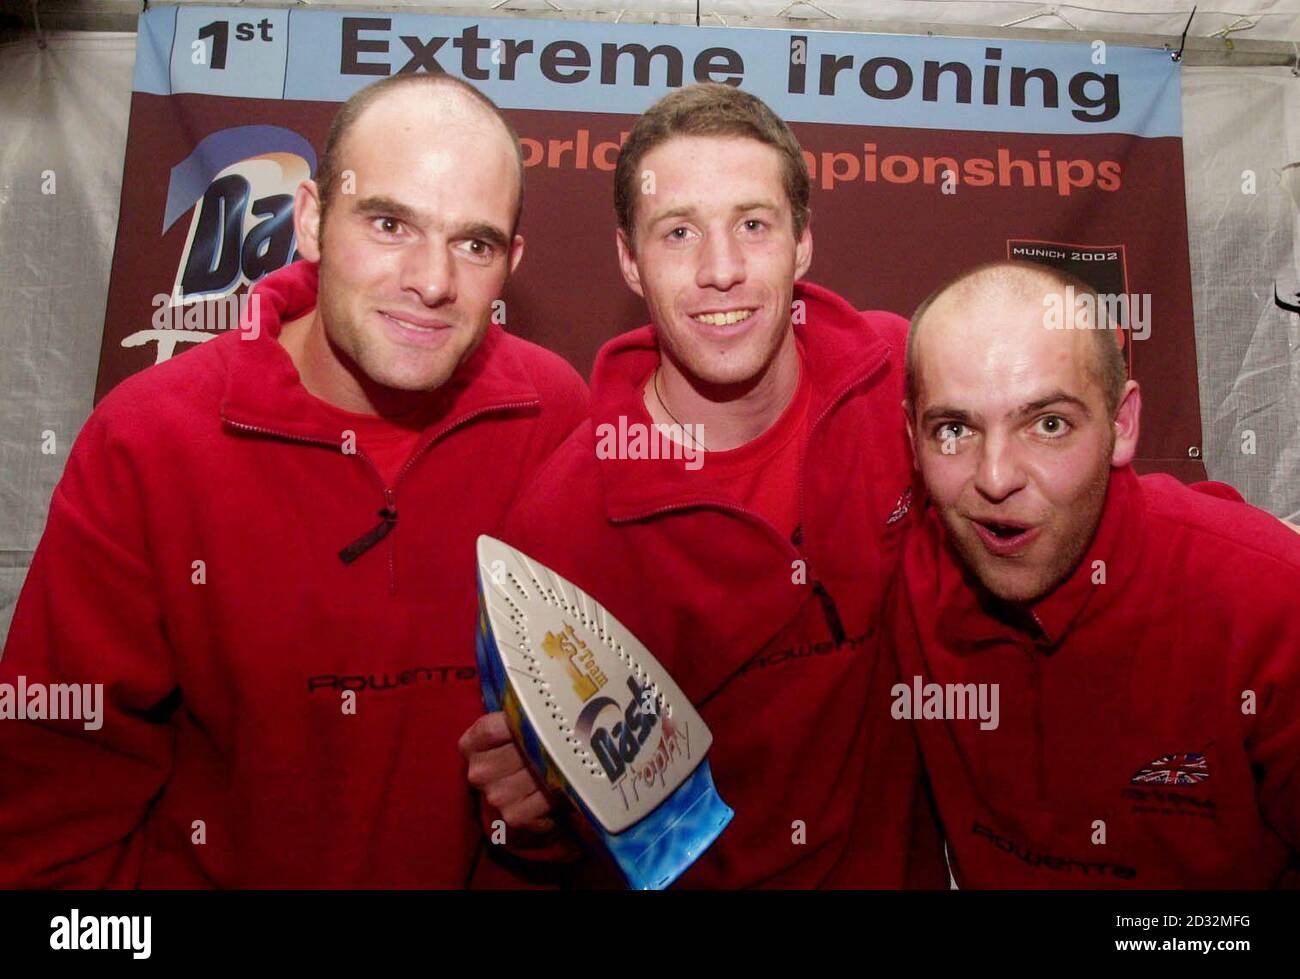
<instances>
[{"instance_id":1,"label":"white tent fabric to the left of the banner","mask_svg":"<svg viewBox=\"0 0 1300 979\"><path fill-rule=\"evenodd\" d=\"M95 394L134 64L134 34L0 46L0 634Z\"/></svg>"}]
</instances>

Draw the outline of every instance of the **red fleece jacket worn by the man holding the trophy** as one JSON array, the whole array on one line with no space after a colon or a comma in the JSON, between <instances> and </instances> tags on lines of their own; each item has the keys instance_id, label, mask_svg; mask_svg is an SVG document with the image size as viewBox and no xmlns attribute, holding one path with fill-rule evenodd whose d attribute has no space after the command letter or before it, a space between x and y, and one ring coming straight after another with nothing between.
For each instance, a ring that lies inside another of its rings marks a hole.
<instances>
[{"instance_id":1,"label":"red fleece jacket worn by the man holding the trophy","mask_svg":"<svg viewBox=\"0 0 1300 979\"><path fill-rule=\"evenodd\" d=\"M601 351L592 421L533 477L503 537L632 629L712 731L714 779L736 816L680 885L941 887L919 758L910 728L889 719L894 667L879 646L910 499L906 322L814 285L796 299L811 402L794 540L714 489L707 454L696 471L597 456L620 419L624 430L650 424L649 326Z\"/></svg>"}]
</instances>

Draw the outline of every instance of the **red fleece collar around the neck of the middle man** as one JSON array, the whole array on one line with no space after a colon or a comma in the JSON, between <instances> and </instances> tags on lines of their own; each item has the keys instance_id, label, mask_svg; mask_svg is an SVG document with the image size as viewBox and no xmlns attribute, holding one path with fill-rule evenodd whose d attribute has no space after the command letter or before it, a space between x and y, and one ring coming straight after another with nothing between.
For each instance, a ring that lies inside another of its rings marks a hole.
<instances>
[{"instance_id":1,"label":"red fleece collar around the neck of the middle man","mask_svg":"<svg viewBox=\"0 0 1300 979\"><path fill-rule=\"evenodd\" d=\"M796 324L794 330L803 345L803 369L811 385L809 419L815 428L853 387L887 363L890 351L863 316L831 290L796 282L794 304L800 300L803 324ZM642 385L658 365L653 324L618 335L601 348L592 371L592 423L598 441L602 432L651 425ZM615 523L692 506L734 507L712 495L699 480L692 480L680 462L607 458L599 460L599 472L606 515Z\"/></svg>"}]
</instances>

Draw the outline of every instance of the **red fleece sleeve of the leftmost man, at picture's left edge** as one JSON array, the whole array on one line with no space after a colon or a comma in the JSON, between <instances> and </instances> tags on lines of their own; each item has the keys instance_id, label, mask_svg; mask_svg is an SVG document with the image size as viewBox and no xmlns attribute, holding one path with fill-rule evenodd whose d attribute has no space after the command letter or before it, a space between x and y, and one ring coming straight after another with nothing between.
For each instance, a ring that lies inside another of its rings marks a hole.
<instances>
[{"instance_id":1,"label":"red fleece sleeve of the leftmost man, at picture's left edge","mask_svg":"<svg viewBox=\"0 0 1300 979\"><path fill-rule=\"evenodd\" d=\"M138 473L110 429L101 408L72 450L0 658L0 697L103 684L81 719L0 722L4 888L135 887L138 829L172 767L159 715L177 684Z\"/></svg>"}]
</instances>

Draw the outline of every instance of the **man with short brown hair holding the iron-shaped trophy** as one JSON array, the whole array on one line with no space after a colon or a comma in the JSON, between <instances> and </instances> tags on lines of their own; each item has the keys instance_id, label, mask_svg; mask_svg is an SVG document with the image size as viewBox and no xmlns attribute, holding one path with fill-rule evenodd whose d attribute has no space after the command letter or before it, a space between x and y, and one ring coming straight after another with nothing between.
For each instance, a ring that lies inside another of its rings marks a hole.
<instances>
[{"instance_id":1,"label":"man with short brown hair holding the iron-shaped trophy","mask_svg":"<svg viewBox=\"0 0 1300 979\"><path fill-rule=\"evenodd\" d=\"M879 654L910 499L905 324L800 281L812 260L803 157L737 88L690 86L637 121L615 212L650 324L601 351L592 420L502 536L601 601L708 724L736 816L681 885L942 885ZM702 459L601 437L655 425ZM502 715L462 746L507 820L547 811Z\"/></svg>"}]
</instances>

